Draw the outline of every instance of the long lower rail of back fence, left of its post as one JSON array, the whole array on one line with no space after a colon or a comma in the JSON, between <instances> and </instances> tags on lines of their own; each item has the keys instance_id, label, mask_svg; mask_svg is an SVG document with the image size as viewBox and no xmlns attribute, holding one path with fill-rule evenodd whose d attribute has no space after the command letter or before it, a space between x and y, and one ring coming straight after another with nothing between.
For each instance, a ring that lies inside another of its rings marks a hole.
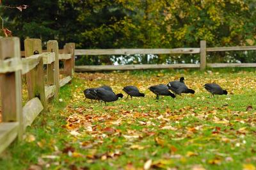
<instances>
[{"instance_id":1,"label":"long lower rail of back fence, left of its post","mask_svg":"<svg viewBox=\"0 0 256 170\"><path fill-rule=\"evenodd\" d=\"M199 64L172 64L172 65L99 65L76 66L76 72L102 71L102 70L144 70L163 68L199 68Z\"/></svg>"}]
</instances>

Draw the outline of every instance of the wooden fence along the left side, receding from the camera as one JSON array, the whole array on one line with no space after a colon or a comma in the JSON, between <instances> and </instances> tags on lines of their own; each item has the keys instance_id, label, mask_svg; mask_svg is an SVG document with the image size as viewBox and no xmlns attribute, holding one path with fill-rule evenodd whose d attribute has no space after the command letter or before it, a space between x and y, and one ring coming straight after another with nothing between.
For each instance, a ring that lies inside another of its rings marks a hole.
<instances>
[{"instance_id":1,"label":"wooden fence along the left side, receding from the camera","mask_svg":"<svg viewBox=\"0 0 256 170\"><path fill-rule=\"evenodd\" d=\"M0 38L0 153L17 137L22 139L26 127L40 112L48 110L49 98L58 99L60 87L70 82L74 74L75 43L66 43L63 54L59 54L56 40L47 42L46 52L42 52L40 39L26 39L24 44L25 58L20 58L19 38ZM63 60L63 72L67 75L61 80L59 60ZM23 107L22 75L26 75L29 98Z\"/></svg>"}]
</instances>

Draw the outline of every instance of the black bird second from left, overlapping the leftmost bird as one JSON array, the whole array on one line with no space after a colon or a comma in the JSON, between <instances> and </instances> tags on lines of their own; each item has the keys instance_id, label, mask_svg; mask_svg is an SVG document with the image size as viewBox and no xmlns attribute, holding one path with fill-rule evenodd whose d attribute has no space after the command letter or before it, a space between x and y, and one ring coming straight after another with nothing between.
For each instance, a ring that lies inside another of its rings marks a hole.
<instances>
[{"instance_id":1,"label":"black bird second from left, overlapping the leftmost bird","mask_svg":"<svg viewBox=\"0 0 256 170\"><path fill-rule=\"evenodd\" d=\"M115 94L113 91L108 91L103 88L97 88L94 91L97 95L97 98L99 98L99 100L104 101L105 105L106 102L115 102L116 100L118 100L119 97L123 98L124 96L122 93Z\"/></svg>"}]
</instances>

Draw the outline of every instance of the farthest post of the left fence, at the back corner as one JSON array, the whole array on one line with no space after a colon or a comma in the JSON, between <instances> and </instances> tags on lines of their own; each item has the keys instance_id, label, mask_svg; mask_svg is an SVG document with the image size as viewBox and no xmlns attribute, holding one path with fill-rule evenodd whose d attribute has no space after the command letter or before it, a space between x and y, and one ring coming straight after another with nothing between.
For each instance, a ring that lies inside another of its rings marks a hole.
<instances>
[{"instance_id":1,"label":"farthest post of the left fence, at the back corner","mask_svg":"<svg viewBox=\"0 0 256 170\"><path fill-rule=\"evenodd\" d=\"M75 71L75 43L66 43L64 45L64 53L70 53L71 58L64 61L64 72L72 77Z\"/></svg>"}]
</instances>

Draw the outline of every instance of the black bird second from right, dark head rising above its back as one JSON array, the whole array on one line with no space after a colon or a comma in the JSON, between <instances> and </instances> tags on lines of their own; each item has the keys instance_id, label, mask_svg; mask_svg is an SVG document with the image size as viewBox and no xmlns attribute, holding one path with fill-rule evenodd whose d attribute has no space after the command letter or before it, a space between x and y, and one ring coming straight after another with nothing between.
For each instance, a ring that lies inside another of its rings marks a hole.
<instances>
[{"instance_id":1,"label":"black bird second from right, dark head rising above its back","mask_svg":"<svg viewBox=\"0 0 256 170\"><path fill-rule=\"evenodd\" d=\"M189 89L184 83L184 77L180 77L180 81L171 81L167 84L168 89L172 90L175 95L181 95L181 93L195 94L195 90Z\"/></svg>"}]
</instances>

